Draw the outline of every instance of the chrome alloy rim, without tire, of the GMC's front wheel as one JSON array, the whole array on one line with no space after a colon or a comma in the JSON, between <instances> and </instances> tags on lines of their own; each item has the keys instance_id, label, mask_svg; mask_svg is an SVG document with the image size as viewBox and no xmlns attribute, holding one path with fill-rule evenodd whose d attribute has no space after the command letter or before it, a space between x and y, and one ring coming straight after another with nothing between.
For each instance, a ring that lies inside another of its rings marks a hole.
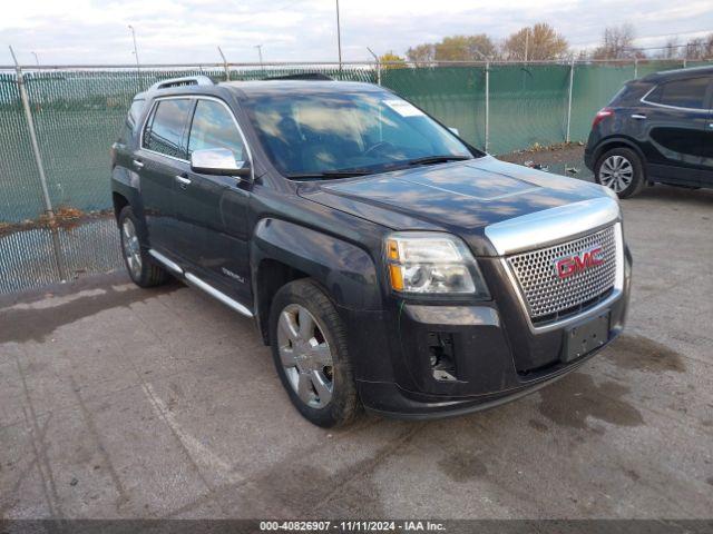
<instances>
[{"instance_id":1,"label":"chrome alloy rim, without tire, of the GMC's front wheel","mask_svg":"<svg viewBox=\"0 0 713 534\"><path fill-rule=\"evenodd\" d=\"M304 306L291 304L280 314L277 348L300 399L312 408L325 407L334 390L332 350L322 326Z\"/></svg>"}]
</instances>

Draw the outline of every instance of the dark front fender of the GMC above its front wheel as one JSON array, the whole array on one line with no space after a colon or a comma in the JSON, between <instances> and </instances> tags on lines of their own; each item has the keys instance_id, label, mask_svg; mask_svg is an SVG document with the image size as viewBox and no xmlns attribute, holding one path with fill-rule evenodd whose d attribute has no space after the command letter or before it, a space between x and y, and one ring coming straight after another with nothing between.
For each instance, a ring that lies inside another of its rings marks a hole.
<instances>
[{"instance_id":1,"label":"dark front fender of the GMC above its front wheel","mask_svg":"<svg viewBox=\"0 0 713 534\"><path fill-rule=\"evenodd\" d=\"M329 291L338 306L381 309L374 261L351 243L286 220L265 218L255 226L251 240L253 280L258 279L257 270L264 259L277 260L309 275ZM257 288L254 290L257 294Z\"/></svg>"}]
</instances>

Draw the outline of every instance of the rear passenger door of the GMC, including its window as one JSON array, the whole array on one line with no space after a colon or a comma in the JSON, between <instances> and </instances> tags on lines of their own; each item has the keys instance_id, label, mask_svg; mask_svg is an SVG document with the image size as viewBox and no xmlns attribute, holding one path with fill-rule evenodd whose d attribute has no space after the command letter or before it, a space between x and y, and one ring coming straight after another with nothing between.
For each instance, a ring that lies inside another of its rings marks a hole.
<instances>
[{"instance_id":1,"label":"rear passenger door of the GMC, including its window","mask_svg":"<svg viewBox=\"0 0 713 534\"><path fill-rule=\"evenodd\" d=\"M192 106L186 97L155 100L133 161L140 179L148 240L163 253L175 254L177 248L174 182L189 168L186 130Z\"/></svg>"}]
</instances>

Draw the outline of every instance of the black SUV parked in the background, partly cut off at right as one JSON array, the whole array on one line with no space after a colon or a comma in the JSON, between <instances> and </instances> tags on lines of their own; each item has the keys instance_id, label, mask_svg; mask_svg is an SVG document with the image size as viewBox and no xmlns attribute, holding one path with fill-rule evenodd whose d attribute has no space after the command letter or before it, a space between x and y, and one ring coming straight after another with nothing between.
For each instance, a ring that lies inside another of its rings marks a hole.
<instances>
[{"instance_id":1,"label":"black SUV parked in the background, partly cut off at right","mask_svg":"<svg viewBox=\"0 0 713 534\"><path fill-rule=\"evenodd\" d=\"M585 165L619 197L645 184L713 187L713 67L627 82L597 112Z\"/></svg>"}]
</instances>

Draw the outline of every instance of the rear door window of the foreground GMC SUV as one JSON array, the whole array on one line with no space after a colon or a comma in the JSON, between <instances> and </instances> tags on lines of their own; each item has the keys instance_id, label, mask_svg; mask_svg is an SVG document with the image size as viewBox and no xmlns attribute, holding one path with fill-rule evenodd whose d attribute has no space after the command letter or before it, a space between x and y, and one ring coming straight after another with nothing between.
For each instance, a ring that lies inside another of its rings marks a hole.
<instances>
[{"instance_id":1,"label":"rear door window of the foreground GMC SUV","mask_svg":"<svg viewBox=\"0 0 713 534\"><path fill-rule=\"evenodd\" d=\"M154 116L146 123L144 148L186 159L186 147L182 144L182 137L191 103L188 99L160 100Z\"/></svg>"}]
</instances>

